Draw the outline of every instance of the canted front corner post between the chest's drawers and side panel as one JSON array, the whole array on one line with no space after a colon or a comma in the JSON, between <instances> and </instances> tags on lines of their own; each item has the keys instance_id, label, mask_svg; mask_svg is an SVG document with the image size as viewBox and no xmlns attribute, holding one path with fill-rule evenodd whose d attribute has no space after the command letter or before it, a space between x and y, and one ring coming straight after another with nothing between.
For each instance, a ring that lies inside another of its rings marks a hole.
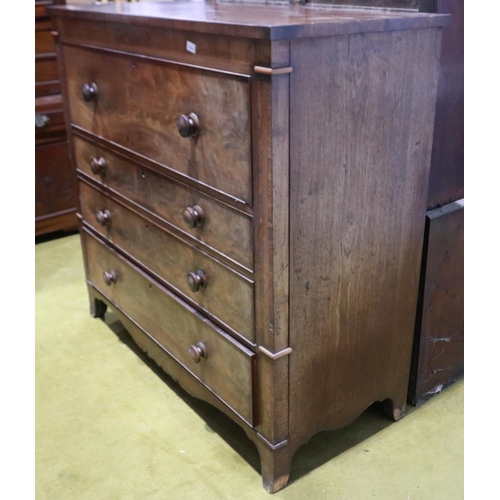
<instances>
[{"instance_id":1,"label":"canted front corner post between the chest's drawers and side panel","mask_svg":"<svg viewBox=\"0 0 500 500\"><path fill-rule=\"evenodd\" d=\"M289 65L288 41L273 42L270 52L271 67ZM289 97L289 74L256 75L252 80L254 191L258 193L254 207L256 335L258 345L273 354L288 346L289 330ZM288 356L272 361L260 352L258 367L258 429L277 445L288 436ZM274 464L264 460L266 484L272 489Z\"/></svg>"}]
</instances>

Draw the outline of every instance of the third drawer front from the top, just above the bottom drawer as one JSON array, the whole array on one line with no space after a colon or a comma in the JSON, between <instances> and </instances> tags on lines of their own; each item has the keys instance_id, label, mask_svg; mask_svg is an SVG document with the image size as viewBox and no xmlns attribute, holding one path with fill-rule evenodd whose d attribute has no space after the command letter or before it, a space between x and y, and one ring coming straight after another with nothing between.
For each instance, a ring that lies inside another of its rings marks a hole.
<instances>
[{"instance_id":1,"label":"third drawer front from the top, just above the bottom drawer","mask_svg":"<svg viewBox=\"0 0 500 500\"><path fill-rule=\"evenodd\" d=\"M80 204L83 220L96 231L254 342L250 281L83 182Z\"/></svg>"}]
</instances>

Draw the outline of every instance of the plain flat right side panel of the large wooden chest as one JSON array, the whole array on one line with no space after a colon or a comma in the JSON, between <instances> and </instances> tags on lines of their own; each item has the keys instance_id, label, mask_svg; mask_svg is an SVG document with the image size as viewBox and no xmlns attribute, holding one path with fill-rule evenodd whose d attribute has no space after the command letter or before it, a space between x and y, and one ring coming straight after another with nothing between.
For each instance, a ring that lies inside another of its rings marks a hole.
<instances>
[{"instance_id":1,"label":"plain flat right side panel of the large wooden chest","mask_svg":"<svg viewBox=\"0 0 500 500\"><path fill-rule=\"evenodd\" d=\"M292 42L292 436L404 409L439 50L438 30Z\"/></svg>"}]
</instances>

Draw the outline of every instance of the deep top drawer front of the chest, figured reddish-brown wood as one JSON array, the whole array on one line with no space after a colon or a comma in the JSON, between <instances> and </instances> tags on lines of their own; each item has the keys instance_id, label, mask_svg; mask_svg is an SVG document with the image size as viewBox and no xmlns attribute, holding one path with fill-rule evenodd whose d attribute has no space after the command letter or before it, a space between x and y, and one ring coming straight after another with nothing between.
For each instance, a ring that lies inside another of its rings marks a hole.
<instances>
[{"instance_id":1,"label":"deep top drawer front of the chest, figured reddish-brown wood","mask_svg":"<svg viewBox=\"0 0 500 500\"><path fill-rule=\"evenodd\" d=\"M72 46L64 60L72 123L251 203L249 78ZM182 137L191 113L199 132Z\"/></svg>"}]
</instances>

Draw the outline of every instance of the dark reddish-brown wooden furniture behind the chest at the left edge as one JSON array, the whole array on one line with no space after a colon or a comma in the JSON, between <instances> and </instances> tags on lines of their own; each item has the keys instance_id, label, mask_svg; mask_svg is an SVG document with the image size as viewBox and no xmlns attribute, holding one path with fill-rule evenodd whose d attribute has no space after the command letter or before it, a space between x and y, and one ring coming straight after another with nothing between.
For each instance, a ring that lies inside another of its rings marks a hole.
<instances>
[{"instance_id":1,"label":"dark reddish-brown wooden furniture behind the chest at the left edge","mask_svg":"<svg viewBox=\"0 0 500 500\"><path fill-rule=\"evenodd\" d=\"M35 1L35 235L76 229L76 177L69 158L51 21Z\"/></svg>"}]
</instances>

